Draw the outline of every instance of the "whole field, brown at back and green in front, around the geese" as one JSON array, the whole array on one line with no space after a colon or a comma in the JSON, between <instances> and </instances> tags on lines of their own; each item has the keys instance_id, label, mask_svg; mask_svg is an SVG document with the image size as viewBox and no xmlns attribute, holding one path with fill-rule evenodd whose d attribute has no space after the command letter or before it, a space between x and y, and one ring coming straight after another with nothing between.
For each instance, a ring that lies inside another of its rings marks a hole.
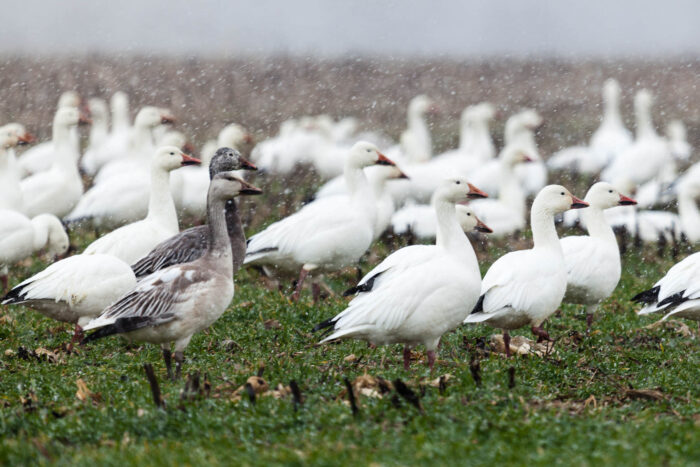
<instances>
[{"instance_id":1,"label":"whole field, brown at back and green in front, around the geese","mask_svg":"<svg viewBox=\"0 0 700 467\"><path fill-rule=\"evenodd\" d=\"M0 116L27 121L30 130L45 135L52 107L46 102L53 103L61 89L76 87L91 95L126 87L134 106L162 102L175 108L183 117L181 128L198 142L228 121L241 121L262 137L287 116L323 110L340 116L335 110L341 102L349 114L367 116L366 126L395 136L408 98L432 90L446 109L433 122L436 147L456 141L454 119L463 105L491 96L504 110L533 105L542 111L547 123L538 142L548 154L595 128L600 82L619 74L623 85L648 85L661 94L657 116L664 121L685 118L691 138L700 127L698 110L687 102L695 92L697 62L149 60L134 61L128 76L120 68L124 61L117 59L5 60ZM217 73L225 72L232 78L222 89L214 84ZM365 74L371 79L364 81ZM188 85L192 76L203 78ZM282 89L276 99L264 98L261 90L274 86ZM452 88L459 90L454 99ZM376 112L367 112L377 96L385 99L377 100ZM626 99L629 115L629 94ZM215 108L211 102L225 105ZM242 202L248 233L295 210L318 184L313 177L299 180L291 192L282 180L253 180L266 194ZM572 191L583 195L583 182ZM524 237L479 245L482 272L505 251L527 247L528 234ZM92 239L87 231L71 238L78 250ZM363 270L403 242L375 245ZM688 253L683 249L678 259ZM493 351L495 330L457 329L444 336L432 375L422 349L404 371L399 346L317 346L311 328L342 310L347 300L331 297L314 305L305 293L293 304L288 289L268 289L247 269L235 279L227 312L193 338L186 351L188 377L178 382L166 379L155 346L107 338L68 353L70 326L28 309L2 307L0 464L700 465L695 323L673 321L649 329L657 318L637 317L629 302L675 261L668 250L660 257L654 246L630 248L620 286L599 309L590 335L582 310L565 304L545 325L555 344L544 356L507 360ZM11 285L46 264L35 257L12 268ZM346 271L329 283L340 293L354 278L354 271ZM515 334L531 337L527 330ZM153 364L164 408L154 404L144 363ZM261 387L252 398L258 376L268 389ZM354 388L356 413L346 379ZM408 390L399 390L401 383ZM300 398L291 390L295 384Z\"/></svg>"}]
</instances>

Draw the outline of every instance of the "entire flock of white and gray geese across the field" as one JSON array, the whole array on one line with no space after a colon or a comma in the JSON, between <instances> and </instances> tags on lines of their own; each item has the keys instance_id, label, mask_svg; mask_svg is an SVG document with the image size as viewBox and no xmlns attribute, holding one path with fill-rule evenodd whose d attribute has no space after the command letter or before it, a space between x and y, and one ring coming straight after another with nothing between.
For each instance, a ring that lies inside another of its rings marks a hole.
<instances>
[{"instance_id":1,"label":"entire flock of white and gray geese across the field","mask_svg":"<svg viewBox=\"0 0 700 467\"><path fill-rule=\"evenodd\" d=\"M506 120L497 151L489 127L498 112L488 102L465 108L458 147L434 155L426 117L437 106L418 95L398 143L359 130L353 117L304 116L282 122L248 160L242 152L253 138L241 125L221 128L194 157L169 109L142 107L132 124L123 92L109 105L65 92L49 141L22 152L34 143L25 126L0 126L2 304L74 325L69 349L110 335L158 344L168 375L178 378L192 337L233 300L241 267L296 278L293 302L310 282L317 303L323 289L332 293L326 274L359 269L371 246L386 240L394 251L374 256L378 264L345 292L347 307L309 323L322 344L402 344L407 370L422 345L432 370L442 336L463 325L500 329L506 356L512 330L527 326L538 341L550 340L543 324L563 302L584 308L590 330L624 271L618 235L690 251L700 242L700 165L691 163L685 125L672 120L665 136L657 132L654 96L641 89L633 138L621 95L607 80L601 124L588 145L548 158L537 147L543 119L534 109ZM88 124L83 145L78 127ZM246 240L247 212L236 198L263 193L249 175L259 170L263 181L292 186L300 169L324 182L313 199ZM553 174L597 181L580 199L548 184ZM677 212L668 209L674 203ZM180 231L183 221L206 223ZM587 235L560 238L559 221ZM70 255L74 229L98 238ZM532 247L504 254L482 279L472 241L519 240L528 231ZM397 248L387 233L428 244ZM35 254L52 263L8 291L9 272ZM640 315L700 321L698 255L630 297Z\"/></svg>"}]
</instances>

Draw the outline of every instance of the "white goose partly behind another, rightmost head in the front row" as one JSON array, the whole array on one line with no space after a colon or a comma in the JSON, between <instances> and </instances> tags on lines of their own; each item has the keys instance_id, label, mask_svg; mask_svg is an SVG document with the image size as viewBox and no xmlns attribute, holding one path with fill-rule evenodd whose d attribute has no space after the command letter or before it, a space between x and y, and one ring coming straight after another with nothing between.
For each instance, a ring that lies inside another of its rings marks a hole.
<instances>
[{"instance_id":1,"label":"white goose partly behind another, rightmost head in the front row","mask_svg":"<svg viewBox=\"0 0 700 467\"><path fill-rule=\"evenodd\" d=\"M590 329L600 302L613 293L622 272L617 239L605 219L604 210L637 202L606 182L593 185L585 201L589 207L581 215L586 219L588 235L564 237L561 247L567 273L564 301L586 306L586 322Z\"/></svg>"}]
</instances>

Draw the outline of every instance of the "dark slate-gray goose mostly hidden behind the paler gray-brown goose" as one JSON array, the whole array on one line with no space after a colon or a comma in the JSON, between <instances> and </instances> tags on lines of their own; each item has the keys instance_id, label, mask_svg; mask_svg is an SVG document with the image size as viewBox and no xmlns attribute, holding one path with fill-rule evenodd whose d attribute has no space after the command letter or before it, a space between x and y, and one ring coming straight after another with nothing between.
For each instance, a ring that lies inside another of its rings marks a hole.
<instances>
[{"instance_id":1,"label":"dark slate-gray goose mostly hidden behind the paler gray-brown goose","mask_svg":"<svg viewBox=\"0 0 700 467\"><path fill-rule=\"evenodd\" d=\"M240 170L257 170L241 153L231 148L219 148L209 164L210 177L221 172ZM234 200L226 202L226 229L231 240L233 272L243 264L246 251L245 234L238 215L238 206ZM179 234L161 242L150 253L132 266L136 277L142 278L159 269L174 264L189 263L201 257L209 244L209 228L206 225L183 230Z\"/></svg>"}]
</instances>

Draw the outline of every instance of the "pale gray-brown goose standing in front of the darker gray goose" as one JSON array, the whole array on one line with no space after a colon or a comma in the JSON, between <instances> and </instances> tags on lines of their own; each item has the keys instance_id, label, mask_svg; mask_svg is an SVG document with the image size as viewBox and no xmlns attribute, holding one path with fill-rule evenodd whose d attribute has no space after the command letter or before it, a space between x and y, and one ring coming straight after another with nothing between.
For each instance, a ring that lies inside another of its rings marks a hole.
<instances>
[{"instance_id":1,"label":"pale gray-brown goose standing in front of the darker gray goose","mask_svg":"<svg viewBox=\"0 0 700 467\"><path fill-rule=\"evenodd\" d=\"M206 253L192 262L145 277L85 326L85 330L96 331L83 343L124 334L129 340L160 344L168 376L172 376L170 344L174 342L178 378L184 350L192 336L211 326L233 299L231 242L224 214L226 201L239 194L260 193L260 189L230 173L216 175L209 187Z\"/></svg>"}]
</instances>

